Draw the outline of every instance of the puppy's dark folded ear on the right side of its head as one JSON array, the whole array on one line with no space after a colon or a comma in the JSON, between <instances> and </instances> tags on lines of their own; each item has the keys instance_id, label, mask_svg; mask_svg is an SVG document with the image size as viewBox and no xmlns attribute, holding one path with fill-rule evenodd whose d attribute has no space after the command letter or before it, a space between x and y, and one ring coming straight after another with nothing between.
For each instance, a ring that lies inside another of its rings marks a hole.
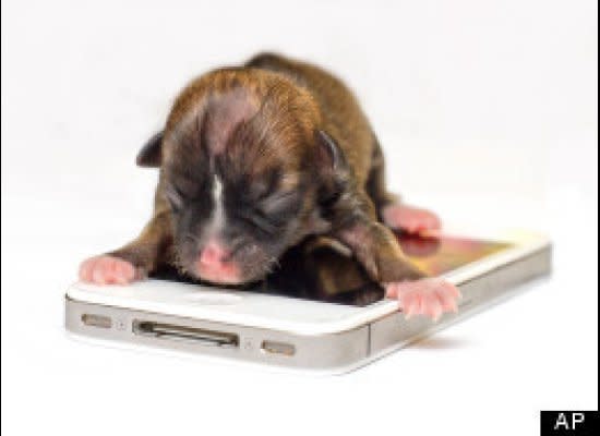
<instances>
[{"instance_id":1,"label":"puppy's dark folded ear on the right side of its head","mask_svg":"<svg viewBox=\"0 0 600 436\"><path fill-rule=\"evenodd\" d=\"M348 162L335 140L326 132L317 130L316 170L321 181L321 202L334 201L347 187L349 178Z\"/></svg>"}]
</instances>

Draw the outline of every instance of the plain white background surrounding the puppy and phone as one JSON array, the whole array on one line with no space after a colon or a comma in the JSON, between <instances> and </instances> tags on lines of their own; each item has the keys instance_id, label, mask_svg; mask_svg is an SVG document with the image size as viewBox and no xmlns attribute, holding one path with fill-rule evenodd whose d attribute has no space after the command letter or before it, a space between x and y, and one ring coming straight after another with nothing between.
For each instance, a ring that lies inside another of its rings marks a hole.
<instances>
[{"instance_id":1,"label":"plain white background surrounding the puppy and phone","mask_svg":"<svg viewBox=\"0 0 600 436\"><path fill-rule=\"evenodd\" d=\"M598 409L596 3L3 1L3 434L535 435ZM67 338L80 261L149 216L133 160L175 94L264 49L356 89L409 202L548 231L552 278L341 377Z\"/></svg>"}]
</instances>

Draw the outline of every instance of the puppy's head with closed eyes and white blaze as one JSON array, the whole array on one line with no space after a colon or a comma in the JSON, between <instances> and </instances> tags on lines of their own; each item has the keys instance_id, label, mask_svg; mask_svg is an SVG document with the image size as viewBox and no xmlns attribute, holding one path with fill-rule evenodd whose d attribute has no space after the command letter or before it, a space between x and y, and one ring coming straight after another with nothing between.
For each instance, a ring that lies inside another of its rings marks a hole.
<instances>
[{"instance_id":1,"label":"puppy's head with closed eyes and white blaze","mask_svg":"<svg viewBox=\"0 0 600 436\"><path fill-rule=\"evenodd\" d=\"M179 267L224 284L264 278L289 247L325 231L321 207L341 192L346 168L310 95L233 78L195 97L184 90L139 156L160 166Z\"/></svg>"}]
</instances>

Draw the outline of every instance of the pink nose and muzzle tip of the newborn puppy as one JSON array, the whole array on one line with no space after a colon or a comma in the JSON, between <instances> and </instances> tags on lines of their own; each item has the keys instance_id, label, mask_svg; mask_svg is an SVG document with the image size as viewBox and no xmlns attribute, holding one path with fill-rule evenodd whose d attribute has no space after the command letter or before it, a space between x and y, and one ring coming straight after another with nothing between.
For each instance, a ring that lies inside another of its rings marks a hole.
<instances>
[{"instance_id":1,"label":"pink nose and muzzle tip of the newborn puppy","mask_svg":"<svg viewBox=\"0 0 600 436\"><path fill-rule=\"evenodd\" d=\"M230 255L230 251L221 243L209 241L197 259L199 276L215 283L239 283L240 271L238 266L229 259Z\"/></svg>"}]
</instances>

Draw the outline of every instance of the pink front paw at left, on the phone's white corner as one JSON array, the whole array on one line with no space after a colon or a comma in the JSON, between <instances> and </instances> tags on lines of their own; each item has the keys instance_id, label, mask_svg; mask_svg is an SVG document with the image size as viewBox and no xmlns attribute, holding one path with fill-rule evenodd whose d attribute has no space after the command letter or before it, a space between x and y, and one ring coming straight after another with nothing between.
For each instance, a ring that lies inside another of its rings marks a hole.
<instances>
[{"instance_id":1,"label":"pink front paw at left, on the phone's white corner","mask_svg":"<svg viewBox=\"0 0 600 436\"><path fill-rule=\"evenodd\" d=\"M127 284L141 276L130 262L107 255L91 257L80 266L80 280L87 283Z\"/></svg>"}]
</instances>

